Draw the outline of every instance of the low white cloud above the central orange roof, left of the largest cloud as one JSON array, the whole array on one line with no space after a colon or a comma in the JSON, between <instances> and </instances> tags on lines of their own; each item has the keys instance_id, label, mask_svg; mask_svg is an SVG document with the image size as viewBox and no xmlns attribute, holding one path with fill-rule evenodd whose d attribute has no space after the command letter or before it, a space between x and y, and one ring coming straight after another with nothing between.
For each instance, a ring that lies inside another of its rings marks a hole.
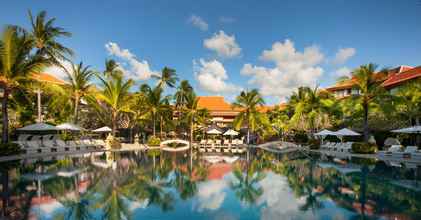
<instances>
[{"instance_id":1,"label":"low white cloud above the central orange roof, left of the largest cloud","mask_svg":"<svg viewBox=\"0 0 421 220\"><path fill-rule=\"evenodd\" d=\"M198 62L193 60L193 69L200 88L207 92L222 94L241 90L241 87L226 82L227 72L222 63L217 60L199 59Z\"/></svg>"}]
</instances>

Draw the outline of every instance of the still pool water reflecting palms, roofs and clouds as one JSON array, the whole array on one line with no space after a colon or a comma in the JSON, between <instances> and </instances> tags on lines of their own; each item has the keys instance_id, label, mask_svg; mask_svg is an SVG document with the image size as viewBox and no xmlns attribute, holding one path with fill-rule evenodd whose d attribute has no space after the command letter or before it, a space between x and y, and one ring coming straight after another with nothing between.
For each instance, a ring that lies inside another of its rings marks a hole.
<instances>
[{"instance_id":1,"label":"still pool water reflecting palms, roofs and clouds","mask_svg":"<svg viewBox=\"0 0 421 220\"><path fill-rule=\"evenodd\" d=\"M9 219L421 219L416 190L421 175L416 166L392 165L264 152L215 164L158 152L17 161L1 166L2 214Z\"/></svg>"}]
</instances>

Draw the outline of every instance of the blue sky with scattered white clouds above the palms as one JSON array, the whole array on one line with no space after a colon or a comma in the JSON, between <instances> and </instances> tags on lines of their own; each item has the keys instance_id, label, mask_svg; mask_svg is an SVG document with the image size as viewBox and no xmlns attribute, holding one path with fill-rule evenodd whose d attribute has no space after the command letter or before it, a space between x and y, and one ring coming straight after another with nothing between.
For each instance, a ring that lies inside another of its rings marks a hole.
<instances>
[{"instance_id":1,"label":"blue sky with scattered white clouds above the palms","mask_svg":"<svg viewBox=\"0 0 421 220\"><path fill-rule=\"evenodd\" d=\"M28 27L28 9L73 33L61 41L75 62L102 70L115 58L139 84L169 66L228 99L258 88L277 103L368 62L421 65L419 0L7 1L0 25Z\"/></svg>"}]
</instances>

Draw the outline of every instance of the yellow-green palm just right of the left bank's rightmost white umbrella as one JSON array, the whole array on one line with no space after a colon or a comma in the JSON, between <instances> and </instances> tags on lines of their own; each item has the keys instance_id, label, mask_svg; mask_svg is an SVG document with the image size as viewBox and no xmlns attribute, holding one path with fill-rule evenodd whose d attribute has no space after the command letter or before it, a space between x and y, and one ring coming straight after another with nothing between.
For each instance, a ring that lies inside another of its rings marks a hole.
<instances>
[{"instance_id":1,"label":"yellow-green palm just right of the left bank's rightmost white umbrella","mask_svg":"<svg viewBox=\"0 0 421 220\"><path fill-rule=\"evenodd\" d=\"M104 79L98 76L102 83L102 91L98 94L98 101L105 103L111 113L112 133L117 130L117 119L122 112L129 112L129 90L133 80L124 80L120 75L113 75Z\"/></svg>"}]
</instances>

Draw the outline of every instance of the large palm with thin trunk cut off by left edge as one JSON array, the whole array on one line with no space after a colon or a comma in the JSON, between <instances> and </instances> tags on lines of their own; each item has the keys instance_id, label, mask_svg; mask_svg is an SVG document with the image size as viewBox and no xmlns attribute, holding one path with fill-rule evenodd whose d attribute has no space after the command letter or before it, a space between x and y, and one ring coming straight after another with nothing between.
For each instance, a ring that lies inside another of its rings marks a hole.
<instances>
[{"instance_id":1,"label":"large palm with thin trunk cut off by left edge","mask_svg":"<svg viewBox=\"0 0 421 220\"><path fill-rule=\"evenodd\" d=\"M48 61L44 56L31 54L34 41L24 30L7 26L0 40L0 85L3 88L2 143L9 140L8 100L13 89L18 88L29 75L40 71Z\"/></svg>"}]
</instances>

